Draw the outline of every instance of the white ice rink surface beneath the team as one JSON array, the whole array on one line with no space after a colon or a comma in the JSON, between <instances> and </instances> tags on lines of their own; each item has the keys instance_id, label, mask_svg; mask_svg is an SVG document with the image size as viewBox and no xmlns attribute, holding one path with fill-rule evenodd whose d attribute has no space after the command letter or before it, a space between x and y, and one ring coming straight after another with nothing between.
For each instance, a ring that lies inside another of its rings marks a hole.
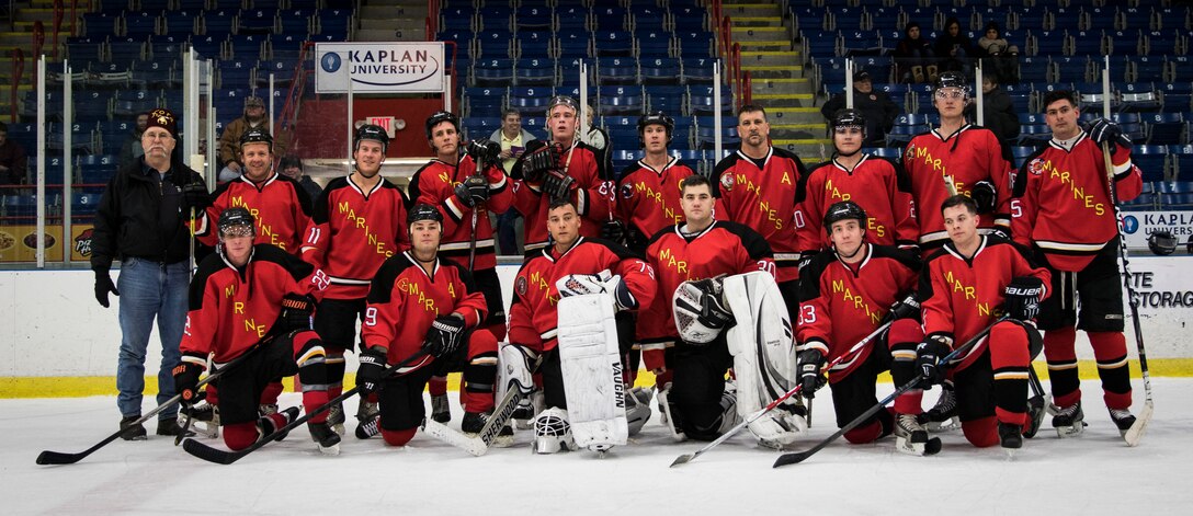
<instances>
[{"instance_id":1,"label":"white ice rink surface beneath the team","mask_svg":"<svg viewBox=\"0 0 1193 516\"><path fill-rule=\"evenodd\" d=\"M1143 388L1138 380L1135 387L1138 412ZM220 466L153 435L150 422L149 441L116 441L74 465L38 466L33 460L42 449L81 452L115 431L115 399L0 399L0 512L1189 514L1193 379L1155 379L1152 387L1156 415L1137 448L1126 447L1113 428L1099 384L1086 381L1086 433L1059 440L1045 418L1045 429L1013 460L997 447L971 447L954 430L940 434L944 450L935 456L900 454L892 437L866 446L840 440L780 470L771 468L778 453L758 448L747 431L668 468L703 443L672 442L657 415L605 459L589 452L533 455L528 431L517 434L513 448L481 458L424 434L404 448L387 448L379 439L357 440L350 417L339 456L321 456L301 427L283 442ZM879 385L878 396L891 388ZM926 403L938 392L927 393ZM798 449L835 431L832 399L823 394ZM297 402L292 393L282 398L284 406ZM356 400L346 409L354 414ZM455 406L450 425L458 428L459 418Z\"/></svg>"}]
</instances>

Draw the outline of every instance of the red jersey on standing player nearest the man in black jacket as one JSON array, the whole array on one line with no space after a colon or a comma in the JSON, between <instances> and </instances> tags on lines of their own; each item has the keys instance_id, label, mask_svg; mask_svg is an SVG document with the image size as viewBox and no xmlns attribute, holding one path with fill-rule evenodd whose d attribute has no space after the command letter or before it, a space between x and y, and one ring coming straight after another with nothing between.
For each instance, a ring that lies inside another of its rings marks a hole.
<instances>
[{"instance_id":1,"label":"red jersey on standing player nearest the man in black jacket","mask_svg":"<svg viewBox=\"0 0 1193 516\"><path fill-rule=\"evenodd\" d=\"M196 220L194 236L215 247L220 241L216 223L220 213L234 206L248 209L256 219L254 243L273 244L297 255L304 231L310 224L311 199L297 181L273 173L260 185L240 176L216 187L211 207Z\"/></svg>"}]
</instances>

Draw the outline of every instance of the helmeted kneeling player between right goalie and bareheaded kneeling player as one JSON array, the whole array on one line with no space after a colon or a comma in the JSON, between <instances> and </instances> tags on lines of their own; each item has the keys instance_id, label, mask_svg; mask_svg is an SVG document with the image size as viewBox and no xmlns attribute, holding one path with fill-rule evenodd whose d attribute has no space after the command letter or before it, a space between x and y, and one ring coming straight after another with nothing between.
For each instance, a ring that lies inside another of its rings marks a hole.
<instances>
[{"instance_id":1,"label":"helmeted kneeling player between right goalie and bareheaded kneeling player","mask_svg":"<svg viewBox=\"0 0 1193 516\"><path fill-rule=\"evenodd\" d=\"M919 303L908 296L919 278L920 259L891 245L865 243L866 220L866 212L851 200L829 206L823 223L833 250L817 254L799 272L796 335L802 342L802 391L805 398L811 398L823 385L824 363L840 359L828 371L839 428L878 403L874 383L891 362L886 343L914 343L922 337ZM890 328L873 344L852 349L888 321ZM872 442L890 435L895 428L891 412L882 410L847 431L845 439L854 444ZM900 436L901 441L905 439Z\"/></svg>"}]
</instances>

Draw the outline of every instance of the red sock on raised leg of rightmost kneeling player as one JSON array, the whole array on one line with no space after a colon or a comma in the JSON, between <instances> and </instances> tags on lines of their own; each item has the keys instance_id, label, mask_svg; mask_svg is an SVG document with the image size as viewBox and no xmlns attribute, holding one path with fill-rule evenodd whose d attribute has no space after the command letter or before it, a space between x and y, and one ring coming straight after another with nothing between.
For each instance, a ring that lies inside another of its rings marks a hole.
<instances>
[{"instance_id":1,"label":"red sock on raised leg of rightmost kneeling player","mask_svg":"<svg viewBox=\"0 0 1193 516\"><path fill-rule=\"evenodd\" d=\"M990 329L990 367L994 369L994 405L999 421L1024 424L1027 415L1027 368L1031 352L1024 328L1009 322Z\"/></svg>"}]
</instances>

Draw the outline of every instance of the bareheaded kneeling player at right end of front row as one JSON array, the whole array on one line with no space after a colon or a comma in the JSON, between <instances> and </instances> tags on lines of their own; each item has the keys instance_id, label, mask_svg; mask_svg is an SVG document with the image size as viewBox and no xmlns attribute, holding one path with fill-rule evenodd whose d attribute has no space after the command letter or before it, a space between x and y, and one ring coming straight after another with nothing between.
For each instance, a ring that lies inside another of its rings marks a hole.
<instances>
[{"instance_id":1,"label":"bareheaded kneeling player at right end of front row","mask_svg":"<svg viewBox=\"0 0 1193 516\"><path fill-rule=\"evenodd\" d=\"M923 265L919 297L922 299L923 332L915 349L915 367L892 367L896 385L915 378L915 368L925 377L925 388L944 381L945 368L952 365L957 385L958 416L962 431L973 446L1001 443L1013 449L1022 446L1024 434L1034 434L1034 417L1027 414L1027 369L1032 354L1039 349L1039 334L1032 318L1039 312L1039 300L1050 274L1037 268L1022 250L997 235L977 230L977 203L965 195L953 195L940 207L950 242ZM999 321L989 335L968 353L950 363L940 360L956 344L966 342ZM896 363L908 363L910 350L891 348ZM916 441L921 428L911 416L919 412L916 393L908 392L895 400L898 428L913 429Z\"/></svg>"}]
</instances>

